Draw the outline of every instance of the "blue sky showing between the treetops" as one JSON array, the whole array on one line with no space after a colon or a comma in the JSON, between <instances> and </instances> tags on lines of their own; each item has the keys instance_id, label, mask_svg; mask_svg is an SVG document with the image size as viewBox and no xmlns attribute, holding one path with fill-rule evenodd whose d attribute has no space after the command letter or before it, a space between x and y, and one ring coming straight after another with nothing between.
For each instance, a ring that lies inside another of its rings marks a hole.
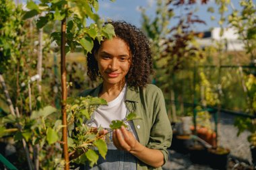
<instances>
[{"instance_id":1,"label":"blue sky showing between the treetops","mask_svg":"<svg viewBox=\"0 0 256 170\"><path fill-rule=\"evenodd\" d=\"M241 9L239 6L238 0L230 0L236 9ZM108 0L99 0L100 8L99 15L104 19L114 19L114 20L125 20L137 27L141 26L141 12L139 7L146 7L147 14L150 17L154 17L156 9L156 0L116 0L115 2ZM207 31L214 27L218 26L218 8L214 3L214 0L210 0L207 5L201 5L200 3L196 4L198 9L197 15L200 19L206 22L206 25L200 24L197 27L198 31ZM215 13L207 12L208 7L214 7ZM228 13L230 13L231 7L228 7ZM180 11L174 11L179 13ZM215 21L211 20L211 16L216 18Z\"/></svg>"}]
</instances>

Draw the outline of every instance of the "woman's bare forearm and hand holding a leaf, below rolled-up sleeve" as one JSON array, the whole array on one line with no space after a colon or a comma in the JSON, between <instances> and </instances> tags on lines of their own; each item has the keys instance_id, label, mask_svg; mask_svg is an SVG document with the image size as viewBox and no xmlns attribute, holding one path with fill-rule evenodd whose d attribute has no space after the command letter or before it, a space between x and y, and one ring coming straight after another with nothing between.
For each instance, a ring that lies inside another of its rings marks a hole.
<instances>
[{"instance_id":1,"label":"woman's bare forearm and hand holding a leaf, below rolled-up sleeve","mask_svg":"<svg viewBox=\"0 0 256 170\"><path fill-rule=\"evenodd\" d=\"M128 151L140 161L151 165L152 167L161 167L164 164L164 155L157 149L147 148L140 144L133 134L121 127L114 130L113 142L117 148L123 151ZM154 157L152 157L154 155Z\"/></svg>"}]
</instances>

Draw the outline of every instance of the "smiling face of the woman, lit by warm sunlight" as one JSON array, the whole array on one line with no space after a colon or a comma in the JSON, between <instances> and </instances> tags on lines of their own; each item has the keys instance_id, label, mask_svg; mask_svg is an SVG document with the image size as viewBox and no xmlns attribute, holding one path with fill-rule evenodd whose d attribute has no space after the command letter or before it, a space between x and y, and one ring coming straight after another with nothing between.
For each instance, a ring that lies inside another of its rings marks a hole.
<instances>
[{"instance_id":1,"label":"smiling face of the woman, lit by warm sunlight","mask_svg":"<svg viewBox=\"0 0 256 170\"><path fill-rule=\"evenodd\" d=\"M131 52L127 43L121 38L105 40L95 55L98 69L104 83L125 83L131 65Z\"/></svg>"}]
</instances>

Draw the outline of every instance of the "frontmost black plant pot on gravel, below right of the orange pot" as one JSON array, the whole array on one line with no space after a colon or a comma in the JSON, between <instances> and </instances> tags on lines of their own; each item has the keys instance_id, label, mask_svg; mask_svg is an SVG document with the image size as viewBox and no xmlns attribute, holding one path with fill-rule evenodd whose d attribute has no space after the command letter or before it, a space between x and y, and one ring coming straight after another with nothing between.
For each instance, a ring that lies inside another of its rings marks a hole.
<instances>
[{"instance_id":1,"label":"frontmost black plant pot on gravel, below right of the orange pot","mask_svg":"<svg viewBox=\"0 0 256 170\"><path fill-rule=\"evenodd\" d=\"M212 148L208 149L208 161L210 167L214 169L227 169L228 155L230 150L228 148Z\"/></svg>"}]
</instances>

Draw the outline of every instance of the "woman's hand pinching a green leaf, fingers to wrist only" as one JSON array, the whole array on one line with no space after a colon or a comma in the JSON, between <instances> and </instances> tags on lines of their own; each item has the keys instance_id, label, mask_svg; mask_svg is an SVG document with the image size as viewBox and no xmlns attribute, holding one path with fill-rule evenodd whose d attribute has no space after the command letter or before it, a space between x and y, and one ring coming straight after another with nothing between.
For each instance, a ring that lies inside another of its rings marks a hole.
<instances>
[{"instance_id":1,"label":"woman's hand pinching a green leaf, fingers to wrist only","mask_svg":"<svg viewBox=\"0 0 256 170\"><path fill-rule=\"evenodd\" d=\"M117 148L123 151L134 151L138 141L133 134L129 132L124 126L120 129L114 130L113 142Z\"/></svg>"}]
</instances>

